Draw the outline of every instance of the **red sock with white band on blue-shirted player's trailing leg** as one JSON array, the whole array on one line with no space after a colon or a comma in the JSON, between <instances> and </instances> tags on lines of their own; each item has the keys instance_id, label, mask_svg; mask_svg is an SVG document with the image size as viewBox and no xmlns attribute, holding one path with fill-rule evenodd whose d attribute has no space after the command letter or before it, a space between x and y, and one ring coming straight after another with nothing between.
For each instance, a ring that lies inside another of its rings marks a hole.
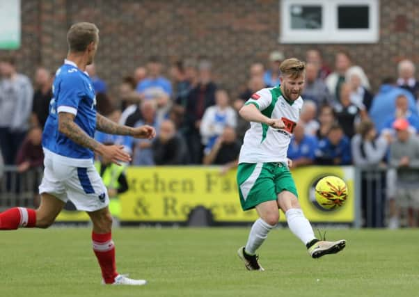
<instances>
[{"instance_id":1,"label":"red sock with white band on blue-shirted player's trailing leg","mask_svg":"<svg viewBox=\"0 0 419 297\"><path fill-rule=\"evenodd\" d=\"M19 227L32 228L36 224L35 209L13 207L0 214L0 230L16 230Z\"/></svg>"}]
</instances>

